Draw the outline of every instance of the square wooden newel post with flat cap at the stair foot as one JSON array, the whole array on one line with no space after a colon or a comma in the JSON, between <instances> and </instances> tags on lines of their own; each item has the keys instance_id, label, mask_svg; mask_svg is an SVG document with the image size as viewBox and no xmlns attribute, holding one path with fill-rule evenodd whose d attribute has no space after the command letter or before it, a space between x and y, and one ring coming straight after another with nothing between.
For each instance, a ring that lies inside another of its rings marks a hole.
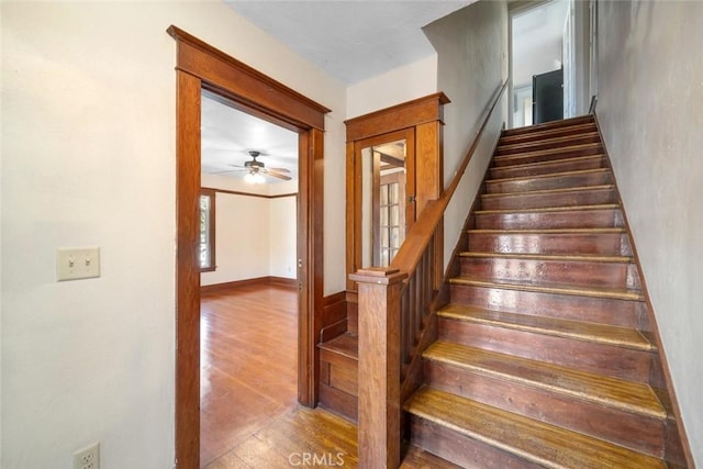
<instances>
[{"instance_id":1,"label":"square wooden newel post with flat cap at the stair foot","mask_svg":"<svg viewBox=\"0 0 703 469\"><path fill-rule=\"evenodd\" d=\"M406 273L358 270L359 468L398 468L401 443L401 289Z\"/></svg>"}]
</instances>

